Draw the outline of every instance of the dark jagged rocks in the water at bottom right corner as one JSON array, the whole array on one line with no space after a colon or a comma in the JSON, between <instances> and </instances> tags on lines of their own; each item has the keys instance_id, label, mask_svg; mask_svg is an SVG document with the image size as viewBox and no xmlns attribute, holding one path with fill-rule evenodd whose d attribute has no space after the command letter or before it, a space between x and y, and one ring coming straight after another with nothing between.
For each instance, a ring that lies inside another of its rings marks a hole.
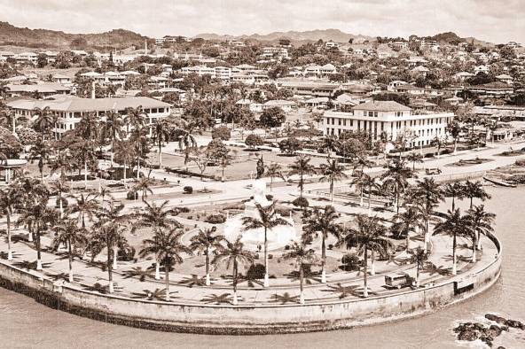
<instances>
[{"instance_id":1,"label":"dark jagged rocks in the water at bottom right corner","mask_svg":"<svg viewBox=\"0 0 525 349\"><path fill-rule=\"evenodd\" d=\"M461 322L454 328L454 333L457 334L458 340L467 342L474 342L474 340L481 340L486 345L492 347L494 339L499 337L503 331L508 332L509 329L525 330L525 323L505 319L496 314L485 314L485 319L496 324L486 325L481 322ZM498 346L498 349L505 349L504 346Z\"/></svg>"}]
</instances>

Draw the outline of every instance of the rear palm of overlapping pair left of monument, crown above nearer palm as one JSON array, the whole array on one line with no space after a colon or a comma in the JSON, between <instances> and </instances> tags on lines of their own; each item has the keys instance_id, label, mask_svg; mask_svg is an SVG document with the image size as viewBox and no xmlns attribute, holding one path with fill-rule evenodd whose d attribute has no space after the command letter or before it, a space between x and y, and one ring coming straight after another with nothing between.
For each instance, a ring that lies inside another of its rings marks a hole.
<instances>
[{"instance_id":1,"label":"rear palm of overlapping pair left of monument, crown above nearer palm","mask_svg":"<svg viewBox=\"0 0 525 349\"><path fill-rule=\"evenodd\" d=\"M153 230L157 228L182 228L178 221L170 217L178 213L179 211L176 208L168 208L168 200L164 201L160 206L155 204L154 201L151 204L145 202L145 207L136 214L138 221L133 225L132 231L138 228L153 228ZM155 279L159 280L160 278L159 260L155 258Z\"/></svg>"}]
</instances>

